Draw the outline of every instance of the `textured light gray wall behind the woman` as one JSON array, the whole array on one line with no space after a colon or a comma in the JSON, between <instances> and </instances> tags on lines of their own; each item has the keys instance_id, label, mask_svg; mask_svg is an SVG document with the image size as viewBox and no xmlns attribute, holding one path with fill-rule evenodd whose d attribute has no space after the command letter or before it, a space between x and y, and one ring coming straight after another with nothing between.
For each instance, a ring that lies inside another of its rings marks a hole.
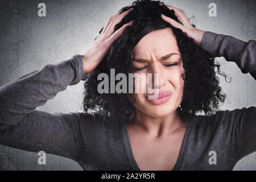
<instances>
[{"instance_id":1,"label":"textured light gray wall behind the woman","mask_svg":"<svg viewBox=\"0 0 256 182\"><path fill-rule=\"evenodd\" d=\"M46 17L38 16L38 4L46 3ZM44 65L59 63L81 54L93 42L110 16L133 1L125 0L9 0L0 1L0 86ZM256 39L255 0L174 0L162 1L182 9L188 18L195 15L196 27L249 41ZM216 3L217 17L208 15L209 3ZM218 58L232 82L221 77L227 94L221 110L256 106L256 83L243 75L235 63ZM68 86L37 110L49 113L82 111L84 81ZM72 98L72 99L71 99ZM73 160L47 154L47 164L38 164L38 155L0 145L2 170L81 170ZM256 170L256 152L237 163L236 170Z\"/></svg>"}]
</instances>

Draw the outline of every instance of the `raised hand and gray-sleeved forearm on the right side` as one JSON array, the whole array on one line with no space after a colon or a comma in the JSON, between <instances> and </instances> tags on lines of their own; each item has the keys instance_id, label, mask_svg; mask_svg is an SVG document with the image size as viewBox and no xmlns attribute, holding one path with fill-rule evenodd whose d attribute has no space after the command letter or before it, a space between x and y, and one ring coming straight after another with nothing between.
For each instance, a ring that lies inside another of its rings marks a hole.
<instances>
[{"instance_id":1,"label":"raised hand and gray-sleeved forearm on the right side","mask_svg":"<svg viewBox=\"0 0 256 182\"><path fill-rule=\"evenodd\" d=\"M162 4L163 5L163 4ZM256 41L243 42L233 36L215 34L210 31L203 31L194 28L183 10L174 6L166 5L168 9L175 10L175 15L182 23L176 22L167 16L162 15L163 20L194 39L194 43L208 52L212 57L224 56L227 61L234 61L242 73L250 73L256 80Z\"/></svg>"}]
</instances>

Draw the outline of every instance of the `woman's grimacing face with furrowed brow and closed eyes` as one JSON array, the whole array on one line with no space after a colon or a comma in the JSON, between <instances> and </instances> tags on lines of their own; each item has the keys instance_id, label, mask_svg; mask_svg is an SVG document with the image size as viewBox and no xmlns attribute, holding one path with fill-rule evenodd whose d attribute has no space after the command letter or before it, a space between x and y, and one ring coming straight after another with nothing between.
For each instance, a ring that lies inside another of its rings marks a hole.
<instances>
[{"instance_id":1,"label":"woman's grimacing face with furrowed brow and closed eyes","mask_svg":"<svg viewBox=\"0 0 256 182\"><path fill-rule=\"evenodd\" d=\"M171 28L152 31L145 35L135 46L134 53L136 59L133 62L136 68L134 73L159 74L158 86L151 86L155 92L158 92L156 94L158 97L148 100L148 90L142 93L142 87L143 89L147 87L148 81L141 81L139 85L135 85L139 86L140 92L134 93L134 106L143 113L156 118L174 112L182 100L184 88L182 75L185 71L176 37ZM154 85L154 81L151 85Z\"/></svg>"}]
</instances>

